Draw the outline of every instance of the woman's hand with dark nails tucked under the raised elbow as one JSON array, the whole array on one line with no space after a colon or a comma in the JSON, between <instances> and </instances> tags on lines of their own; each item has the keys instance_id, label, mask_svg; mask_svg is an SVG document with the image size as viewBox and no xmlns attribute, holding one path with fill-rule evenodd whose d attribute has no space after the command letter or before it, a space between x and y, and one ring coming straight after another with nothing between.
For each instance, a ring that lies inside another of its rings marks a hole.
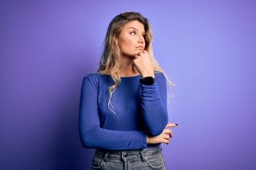
<instances>
[{"instance_id":1,"label":"woman's hand with dark nails tucked under the raised elbow","mask_svg":"<svg viewBox=\"0 0 256 170\"><path fill-rule=\"evenodd\" d=\"M165 143L165 144L169 145L169 140L173 135L169 128L175 128L177 126L178 126L178 124L176 124L176 123L168 123L166 125L166 128L164 128L163 132L161 132L160 135L154 136L154 137L149 137L146 135L146 143L147 144Z\"/></svg>"}]
</instances>

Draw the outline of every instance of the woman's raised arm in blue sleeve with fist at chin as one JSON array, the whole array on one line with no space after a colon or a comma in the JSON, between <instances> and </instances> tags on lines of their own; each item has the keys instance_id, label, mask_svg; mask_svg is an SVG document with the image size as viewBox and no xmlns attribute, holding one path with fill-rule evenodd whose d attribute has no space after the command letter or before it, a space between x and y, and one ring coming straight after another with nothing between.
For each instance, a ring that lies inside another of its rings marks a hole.
<instances>
[{"instance_id":1,"label":"woman's raised arm in blue sleeve with fist at chin","mask_svg":"<svg viewBox=\"0 0 256 170\"><path fill-rule=\"evenodd\" d=\"M146 50L135 55L133 62L142 79L155 77L154 67ZM141 100L146 134L160 135L168 123L166 79L163 74L159 75L153 85L141 86Z\"/></svg>"}]
</instances>

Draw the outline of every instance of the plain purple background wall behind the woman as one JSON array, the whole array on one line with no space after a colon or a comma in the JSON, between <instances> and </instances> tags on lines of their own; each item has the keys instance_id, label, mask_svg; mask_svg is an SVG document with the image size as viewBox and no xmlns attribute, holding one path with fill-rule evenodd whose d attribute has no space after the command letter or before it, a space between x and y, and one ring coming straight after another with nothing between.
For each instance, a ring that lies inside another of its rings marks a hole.
<instances>
[{"instance_id":1,"label":"plain purple background wall behind the woman","mask_svg":"<svg viewBox=\"0 0 256 170\"><path fill-rule=\"evenodd\" d=\"M255 1L1 1L0 169L90 169L80 87L111 19L140 11L177 86L166 169L256 169Z\"/></svg>"}]
</instances>

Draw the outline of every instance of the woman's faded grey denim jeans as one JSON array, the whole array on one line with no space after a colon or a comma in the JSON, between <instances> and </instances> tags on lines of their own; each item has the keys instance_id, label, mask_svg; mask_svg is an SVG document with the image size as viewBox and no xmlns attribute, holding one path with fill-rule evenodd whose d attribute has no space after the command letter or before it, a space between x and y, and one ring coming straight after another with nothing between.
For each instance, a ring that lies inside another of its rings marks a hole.
<instances>
[{"instance_id":1,"label":"woman's faded grey denim jeans","mask_svg":"<svg viewBox=\"0 0 256 170\"><path fill-rule=\"evenodd\" d=\"M96 149L91 169L161 169L165 170L161 145L128 151L102 151Z\"/></svg>"}]
</instances>

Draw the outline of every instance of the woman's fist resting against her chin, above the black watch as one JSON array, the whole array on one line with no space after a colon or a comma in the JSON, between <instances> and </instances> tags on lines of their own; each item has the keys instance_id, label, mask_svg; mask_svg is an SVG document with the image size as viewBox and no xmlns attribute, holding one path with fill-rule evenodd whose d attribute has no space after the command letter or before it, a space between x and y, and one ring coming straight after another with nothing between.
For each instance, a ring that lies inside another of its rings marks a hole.
<instances>
[{"instance_id":1,"label":"woman's fist resting against her chin, above the black watch","mask_svg":"<svg viewBox=\"0 0 256 170\"><path fill-rule=\"evenodd\" d=\"M149 53L146 50L135 55L133 62L139 74L141 74L142 79L144 79L144 77L154 78L154 68L151 63Z\"/></svg>"}]
</instances>

